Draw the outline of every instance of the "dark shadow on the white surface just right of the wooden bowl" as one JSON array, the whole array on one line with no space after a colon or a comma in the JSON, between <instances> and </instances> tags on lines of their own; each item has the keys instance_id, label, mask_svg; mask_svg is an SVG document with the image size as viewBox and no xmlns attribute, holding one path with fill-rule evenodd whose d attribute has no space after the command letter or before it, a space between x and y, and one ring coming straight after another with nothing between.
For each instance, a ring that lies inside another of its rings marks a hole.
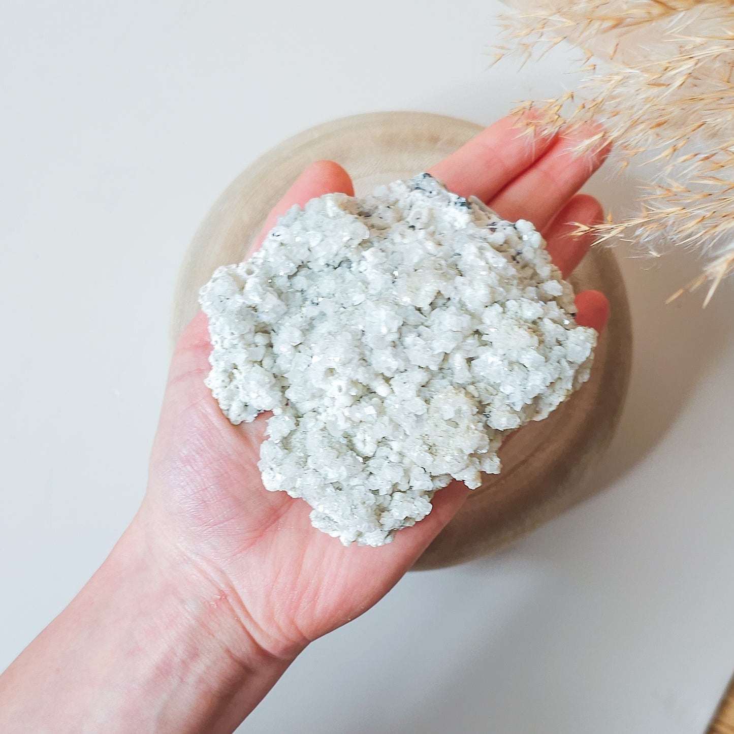
<instances>
[{"instance_id":1,"label":"dark shadow on the white surface just right of the wooden bowl","mask_svg":"<svg viewBox=\"0 0 734 734\"><path fill-rule=\"evenodd\" d=\"M589 192L616 217L634 211L638 181L595 177ZM617 257L625 277L633 327L632 377L622 421L606 458L592 470L598 489L625 476L653 451L675 423L702 374L732 333L727 288L705 311L703 292L666 300L700 272L694 252L670 251L662 258L638 258L624 244Z\"/></svg>"}]
</instances>

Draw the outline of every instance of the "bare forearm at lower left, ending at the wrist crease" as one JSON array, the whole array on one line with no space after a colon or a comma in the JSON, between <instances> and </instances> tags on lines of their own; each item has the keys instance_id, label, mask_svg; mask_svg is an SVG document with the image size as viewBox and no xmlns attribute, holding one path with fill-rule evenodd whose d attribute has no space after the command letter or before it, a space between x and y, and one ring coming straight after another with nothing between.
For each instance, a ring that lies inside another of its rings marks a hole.
<instances>
[{"instance_id":1,"label":"bare forearm at lower left, ending at the wrist crease","mask_svg":"<svg viewBox=\"0 0 734 734\"><path fill-rule=\"evenodd\" d=\"M222 589L139 524L0 677L0 731L230 732L283 674Z\"/></svg>"}]
</instances>

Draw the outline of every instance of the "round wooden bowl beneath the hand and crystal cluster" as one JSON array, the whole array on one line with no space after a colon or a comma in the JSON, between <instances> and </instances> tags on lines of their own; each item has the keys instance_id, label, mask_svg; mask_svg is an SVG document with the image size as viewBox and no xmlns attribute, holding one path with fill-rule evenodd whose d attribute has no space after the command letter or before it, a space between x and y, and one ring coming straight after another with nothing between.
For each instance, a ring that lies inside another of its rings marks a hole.
<instances>
[{"instance_id":1,"label":"round wooden bowl beneath the hand and crystal cluster","mask_svg":"<svg viewBox=\"0 0 734 734\"><path fill-rule=\"evenodd\" d=\"M247 257L266 214L307 164L337 161L352 175L359 196L379 183L426 170L480 129L440 115L381 112L334 120L277 145L230 184L189 245L175 288L172 341L197 312L199 288L217 266ZM591 379L549 418L523 427L502 448L502 473L486 476L417 568L448 566L495 551L588 493L586 474L606 449L622 411L631 324L625 286L610 250L592 250L572 282L577 291L603 291L611 303Z\"/></svg>"}]
</instances>

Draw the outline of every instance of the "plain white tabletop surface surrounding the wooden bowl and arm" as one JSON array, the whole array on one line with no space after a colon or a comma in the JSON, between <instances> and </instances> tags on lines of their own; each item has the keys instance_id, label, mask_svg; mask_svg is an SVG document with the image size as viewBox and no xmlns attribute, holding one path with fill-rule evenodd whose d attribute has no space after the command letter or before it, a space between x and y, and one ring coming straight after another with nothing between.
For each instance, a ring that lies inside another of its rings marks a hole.
<instances>
[{"instance_id":1,"label":"plain white tabletop surface surrounding the wooden bowl and arm","mask_svg":"<svg viewBox=\"0 0 734 734\"><path fill-rule=\"evenodd\" d=\"M236 173L331 117L489 123L570 83L562 51L487 70L488 0L252 5L4 3L0 667L137 507L175 271ZM631 183L592 190L619 204ZM664 307L696 264L650 265L623 264L636 357L603 493L500 556L409 575L243 731L705 729L734 669L734 287Z\"/></svg>"}]
</instances>

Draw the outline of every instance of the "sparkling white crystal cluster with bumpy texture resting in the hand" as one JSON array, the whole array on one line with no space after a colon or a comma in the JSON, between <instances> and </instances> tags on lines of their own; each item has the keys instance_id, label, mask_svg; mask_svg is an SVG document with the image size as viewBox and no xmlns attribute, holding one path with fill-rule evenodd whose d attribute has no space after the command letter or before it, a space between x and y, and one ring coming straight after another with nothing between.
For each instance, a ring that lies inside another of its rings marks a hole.
<instances>
[{"instance_id":1,"label":"sparkling white crystal cluster with bumpy texture resting in the hand","mask_svg":"<svg viewBox=\"0 0 734 734\"><path fill-rule=\"evenodd\" d=\"M294 206L200 293L206 384L268 418L267 490L345 545L383 545L452 479L498 473L504 436L589 377L594 330L530 222L428 174Z\"/></svg>"}]
</instances>

